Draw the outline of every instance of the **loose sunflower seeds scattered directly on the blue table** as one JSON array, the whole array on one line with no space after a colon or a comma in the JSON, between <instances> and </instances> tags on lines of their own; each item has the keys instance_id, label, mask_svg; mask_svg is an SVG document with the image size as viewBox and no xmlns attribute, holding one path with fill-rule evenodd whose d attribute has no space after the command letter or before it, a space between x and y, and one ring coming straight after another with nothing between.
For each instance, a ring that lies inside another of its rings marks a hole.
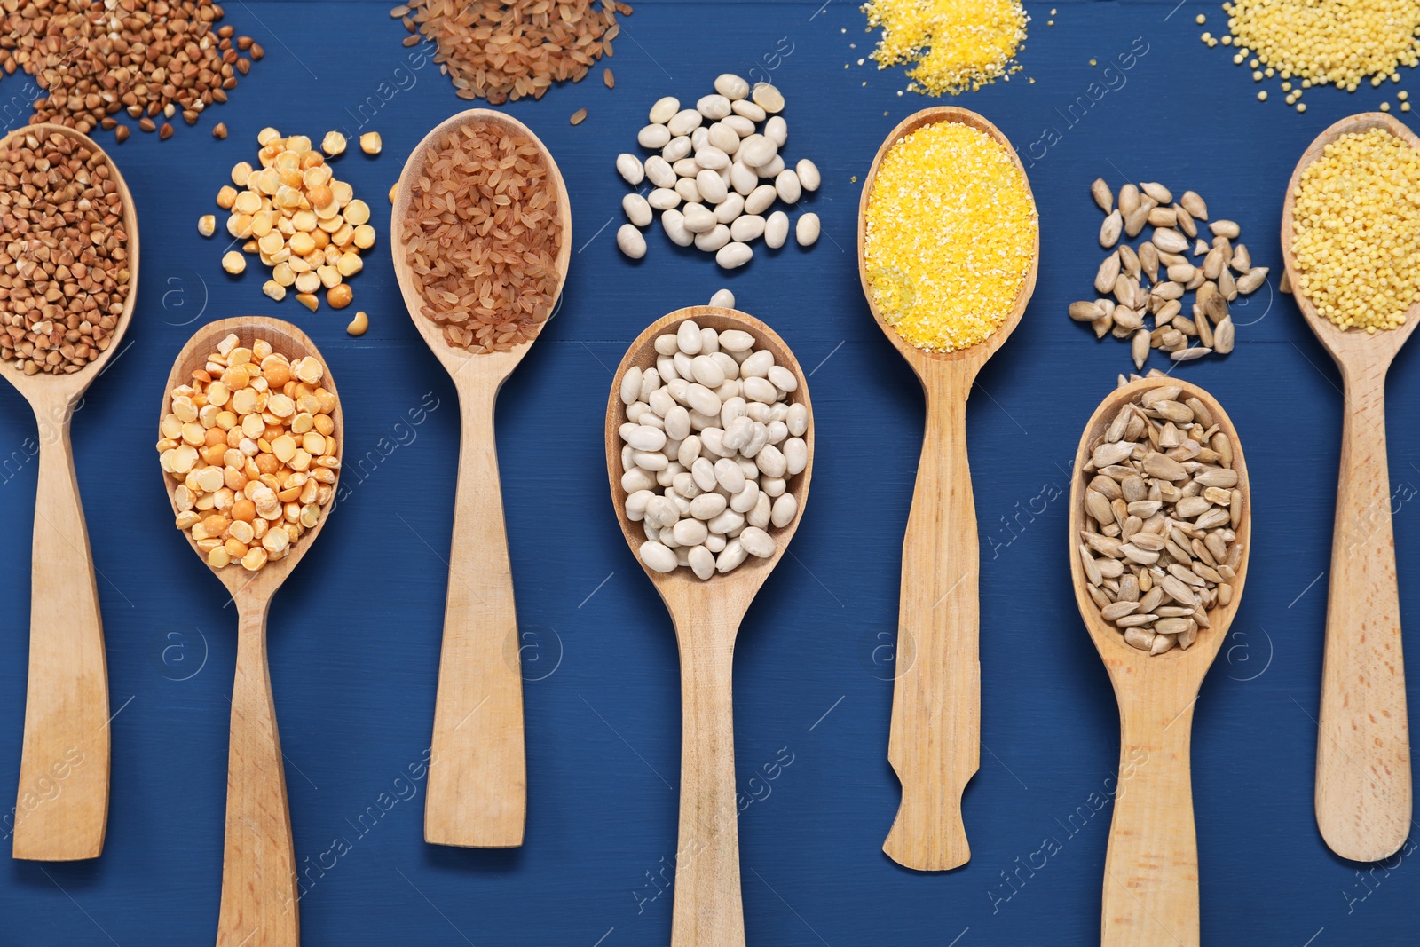
<instances>
[{"instance_id":1,"label":"loose sunflower seeds scattered directly on the blue table","mask_svg":"<svg viewBox=\"0 0 1420 947\"><path fill-rule=\"evenodd\" d=\"M1234 325L1228 305L1254 292L1267 280L1267 267L1254 267L1245 244L1233 241L1241 229L1233 220L1208 221L1203 197L1186 190L1177 200L1157 182L1125 185L1115 193L1096 179L1089 193L1105 212L1099 246L1110 251L1095 274L1093 302L1072 302L1069 317L1089 322L1096 338L1112 334L1129 339L1135 368L1143 369L1149 349L1190 362L1233 351ZM1139 246L1129 241L1153 227ZM1200 236L1208 230L1211 243ZM1193 301L1184 295L1193 292ZM1184 307L1190 308L1186 311ZM1153 317L1153 328L1145 325Z\"/></svg>"}]
</instances>

